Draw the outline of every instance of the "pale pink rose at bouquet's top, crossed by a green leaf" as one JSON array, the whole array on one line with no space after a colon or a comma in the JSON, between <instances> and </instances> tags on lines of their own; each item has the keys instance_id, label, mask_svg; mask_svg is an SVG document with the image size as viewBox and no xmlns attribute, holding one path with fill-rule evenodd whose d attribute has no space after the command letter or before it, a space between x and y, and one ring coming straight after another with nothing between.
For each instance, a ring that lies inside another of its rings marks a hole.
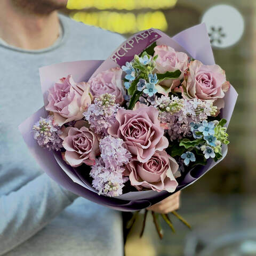
<instances>
[{"instance_id":1,"label":"pale pink rose at bouquet's top, crossed by a green leaf","mask_svg":"<svg viewBox=\"0 0 256 256\"><path fill-rule=\"evenodd\" d=\"M180 80L184 76L185 70L188 68L188 55L184 52L176 52L172 47L167 45L158 45L154 48L155 55L158 55L156 59L156 72L164 74L166 71L175 71L179 69L181 75L177 79L165 79L157 85L157 90L159 93L168 94L176 86L180 84ZM161 85L169 87L169 90L163 90Z\"/></svg>"}]
</instances>

